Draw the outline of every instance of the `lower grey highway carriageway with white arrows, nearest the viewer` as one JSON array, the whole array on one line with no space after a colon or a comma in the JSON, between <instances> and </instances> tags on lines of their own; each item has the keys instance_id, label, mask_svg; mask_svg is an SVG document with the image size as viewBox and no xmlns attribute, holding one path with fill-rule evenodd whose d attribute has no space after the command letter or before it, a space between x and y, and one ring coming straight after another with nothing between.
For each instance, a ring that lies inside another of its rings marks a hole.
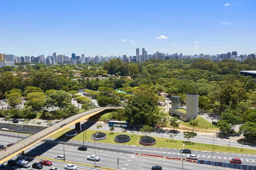
<instances>
[{"instance_id":1,"label":"lower grey highway carriageway with white arrows, nearest the viewer","mask_svg":"<svg viewBox=\"0 0 256 170\"><path fill-rule=\"evenodd\" d=\"M8 139L7 139L8 141ZM2 138L1 138L2 142ZM77 150L77 147L64 146L66 161L74 161L84 164L94 164L94 161L88 161L87 156L94 154L93 149L88 149L87 151ZM44 156L48 158L55 158L55 156L59 154L64 154L63 145L54 145L54 144L46 144L42 142L38 142L34 146L25 150L25 154L28 155L38 155ZM150 170L154 165L161 165L163 170L180 170L182 167L182 161L172 161L166 159L157 159L150 158L145 156L134 156L131 154L121 154L121 153L113 153L106 152L101 150L96 150L96 155L101 156L101 160L96 162L96 166L104 166L117 168L117 157L119 157L119 170ZM38 159L39 160L39 159ZM36 161L32 161L36 162ZM6 164L6 163L5 163ZM55 166L55 164L53 164ZM63 165L56 165L59 169L64 169ZM198 165L191 162L183 162L184 170L198 169L200 170L217 170L219 167L211 167ZM6 170L8 167L5 168ZM46 170L47 168L44 167ZM43 169L43 170L44 170ZM49 169L49 167L48 167ZM79 169L79 168L78 168Z\"/></svg>"}]
</instances>

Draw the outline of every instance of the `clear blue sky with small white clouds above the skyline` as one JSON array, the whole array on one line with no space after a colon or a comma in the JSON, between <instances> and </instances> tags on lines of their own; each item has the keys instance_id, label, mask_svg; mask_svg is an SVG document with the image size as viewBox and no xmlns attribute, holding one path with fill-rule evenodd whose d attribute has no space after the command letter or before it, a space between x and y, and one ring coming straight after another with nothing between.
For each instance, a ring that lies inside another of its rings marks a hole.
<instances>
[{"instance_id":1,"label":"clear blue sky with small white clouds above the skyline","mask_svg":"<svg viewBox=\"0 0 256 170\"><path fill-rule=\"evenodd\" d=\"M136 48L256 52L256 0L2 0L0 6L0 53L16 56L129 56Z\"/></svg>"}]
</instances>

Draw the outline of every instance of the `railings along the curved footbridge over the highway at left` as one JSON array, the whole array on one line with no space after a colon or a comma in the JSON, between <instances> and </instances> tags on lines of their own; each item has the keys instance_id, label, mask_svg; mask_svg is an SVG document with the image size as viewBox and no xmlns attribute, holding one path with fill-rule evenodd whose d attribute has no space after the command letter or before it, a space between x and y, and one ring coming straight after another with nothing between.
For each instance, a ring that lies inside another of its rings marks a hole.
<instances>
[{"instance_id":1,"label":"railings along the curved footbridge over the highway at left","mask_svg":"<svg viewBox=\"0 0 256 170\"><path fill-rule=\"evenodd\" d=\"M80 115L80 116L78 116L78 117L75 117L74 119L72 119L72 120L66 122L65 124L67 125L67 124L69 124L69 123L71 123L71 122L73 122L73 121L75 121L75 120L77 120L77 119L79 119L79 118L81 118L81 117L83 117L83 116L86 116L86 115L88 115L88 114L91 114L91 113L94 113L94 112L97 112L97 111L100 111L100 110L106 109L106 108L117 108L117 107L114 107L114 106L111 107L111 106L109 106L109 107L102 107L102 108L98 108L98 109L92 109L92 110L90 110L90 111L87 112L87 113L84 113L84 114L82 114L82 115ZM79 114L79 113L78 113L78 114ZM77 114L75 114L75 115L77 115ZM70 118L70 117L72 117L72 116L75 116L75 115L67 116L67 117L63 118L63 120L64 120L64 119L67 119L67 118ZM60 121L60 122L61 122L61 121ZM15 152L18 152L19 150L21 150L21 149L23 149L23 148L29 146L30 144L32 144L32 143L38 141L39 139L43 138L44 136L49 135L50 133L54 132L55 130L58 130L58 129L61 128L61 127L62 127L62 125L56 127L55 129L53 129L53 130L51 130L51 131L49 131L49 132L47 132L47 133L45 133L44 135L39 136L38 138L34 139L32 142L26 143L26 144L24 144L23 146L18 147L17 149L13 150L12 152L9 152L9 153L7 153L7 154L1 156L1 157L0 157L0 160L6 158L7 156L12 155L12 154L15 153ZM45 128L47 128L47 127L44 127L44 128L42 128L42 129L39 129L39 130L37 130L37 131L35 131L35 132L29 134L28 137L34 135L35 133L38 133L39 131L41 131L41 130L43 130L43 129L45 129ZM27 138L28 138L28 137L27 137ZM17 143L18 143L18 142L17 142ZM16 143L16 144L17 144L17 143ZM12 146L14 146L14 145L12 145Z\"/></svg>"}]
</instances>

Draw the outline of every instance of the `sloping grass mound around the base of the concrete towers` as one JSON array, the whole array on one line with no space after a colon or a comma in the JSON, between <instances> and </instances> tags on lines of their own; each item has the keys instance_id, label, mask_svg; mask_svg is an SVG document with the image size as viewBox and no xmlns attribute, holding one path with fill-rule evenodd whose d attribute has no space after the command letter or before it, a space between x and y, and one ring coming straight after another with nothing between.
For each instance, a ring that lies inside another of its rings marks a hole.
<instances>
[{"instance_id":1,"label":"sloping grass mound around the base of the concrete towers","mask_svg":"<svg viewBox=\"0 0 256 170\"><path fill-rule=\"evenodd\" d=\"M218 127L216 127L215 125L212 125L210 122L208 122L201 116L198 116L195 119L198 120L198 126L195 126L194 129L204 129L205 130L207 128L207 130L219 130ZM193 128L193 126L189 125L189 122L182 122L182 126Z\"/></svg>"}]
</instances>

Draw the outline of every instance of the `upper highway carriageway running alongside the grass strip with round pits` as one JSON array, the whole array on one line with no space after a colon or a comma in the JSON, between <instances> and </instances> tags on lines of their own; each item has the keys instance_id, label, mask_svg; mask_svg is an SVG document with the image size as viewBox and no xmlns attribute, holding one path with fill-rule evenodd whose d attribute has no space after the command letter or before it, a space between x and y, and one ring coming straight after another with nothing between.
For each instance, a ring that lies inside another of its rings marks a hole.
<instances>
[{"instance_id":1,"label":"upper highway carriageway running alongside the grass strip with round pits","mask_svg":"<svg viewBox=\"0 0 256 170\"><path fill-rule=\"evenodd\" d=\"M14 138L1 137L0 144L7 144L10 142L14 142L15 140L16 139L14 139ZM48 138L48 140L54 140L54 139ZM82 144L82 142L78 142L78 141L70 140L69 142ZM36 144L35 146L39 146L39 144ZM85 145L94 146L94 143L93 142L85 142ZM47 146L47 144L44 144L42 142L40 146L45 147L45 146ZM139 154L143 153L143 154L159 155L159 156L164 156L164 157L168 156L168 157L173 157L173 158L182 158L182 153L180 153L180 150L177 150L177 149L166 149L166 148L158 148L158 147L141 147L141 146L105 144L105 143L96 143L96 146L117 149L117 150L134 151L134 153L139 153ZM34 146L30 147L30 150L31 150L31 148L37 149L37 147L34 147ZM34 151L34 150L32 150L32 151ZM45 150L41 150L41 151L38 150L36 153L40 153L42 156L44 156L44 155L48 155L47 154L48 151L51 151L51 149L49 149L49 147L46 147ZM101 151L101 152L105 152L105 151ZM57 153L57 152L55 152L55 153ZM30 154L30 153L28 153L28 154ZM59 154L63 154L63 145L61 146L61 153L59 153ZM90 154L93 154L93 153L90 153ZM97 151L96 151L96 154L97 154ZM192 151L192 154L198 155L199 159L201 159L201 160L208 160L208 161L229 162L229 160L231 158L236 157L236 158L242 159L243 164L255 165L255 162L256 162L255 155L234 154L234 153L213 153L213 155L212 155L211 152L202 152L202 151ZM187 155L188 154L184 154L183 158L186 158ZM147 158L147 157L144 156L143 158Z\"/></svg>"}]
</instances>

